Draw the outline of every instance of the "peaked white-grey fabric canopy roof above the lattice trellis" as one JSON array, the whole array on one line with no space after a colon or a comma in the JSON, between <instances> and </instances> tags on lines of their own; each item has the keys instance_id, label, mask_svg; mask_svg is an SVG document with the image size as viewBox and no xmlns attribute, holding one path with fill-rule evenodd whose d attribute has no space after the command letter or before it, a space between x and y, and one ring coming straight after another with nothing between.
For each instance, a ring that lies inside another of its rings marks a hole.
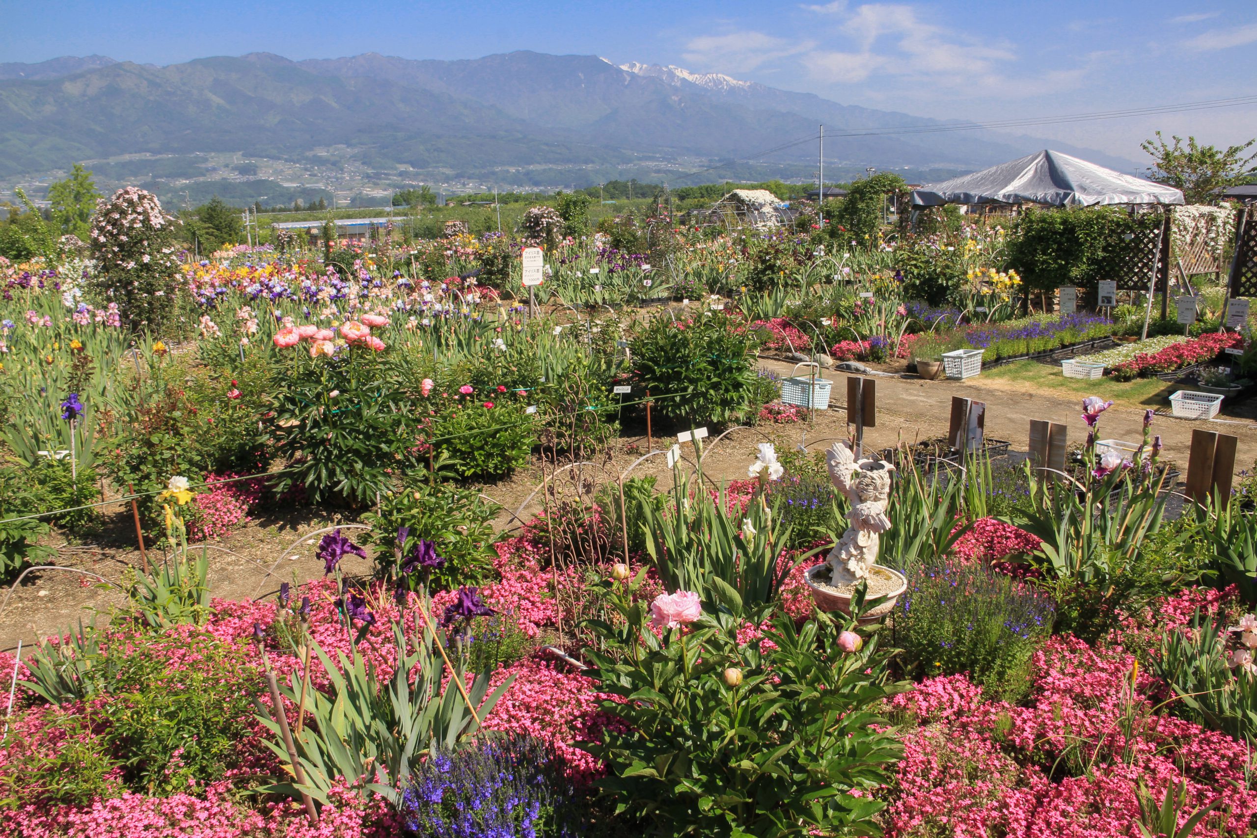
<instances>
[{"instance_id":1,"label":"peaked white-grey fabric canopy roof above the lattice trellis","mask_svg":"<svg viewBox=\"0 0 1257 838\"><path fill-rule=\"evenodd\" d=\"M1173 186L1123 175L1058 151L1038 151L1018 160L913 190L913 207L943 204L1183 204Z\"/></svg>"}]
</instances>

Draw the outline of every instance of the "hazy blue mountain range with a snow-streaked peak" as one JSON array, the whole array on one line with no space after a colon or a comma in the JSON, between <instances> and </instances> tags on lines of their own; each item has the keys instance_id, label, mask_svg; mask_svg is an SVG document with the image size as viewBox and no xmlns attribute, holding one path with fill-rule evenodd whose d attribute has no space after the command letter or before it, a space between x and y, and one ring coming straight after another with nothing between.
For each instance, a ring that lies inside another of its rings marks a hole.
<instances>
[{"instance_id":1,"label":"hazy blue mountain range with a snow-streaked peak","mask_svg":"<svg viewBox=\"0 0 1257 838\"><path fill-rule=\"evenodd\" d=\"M970 171L1048 144L1131 166L1094 150L988 131L842 137L947 123L593 55L515 52L446 62L367 53L293 62L253 53L167 67L99 55L0 64L5 177L131 153L244 152L299 162L329 147L385 171L474 176L649 163L683 176L812 137L755 158L798 177L815 170L820 123L827 173L835 175L865 166Z\"/></svg>"}]
</instances>

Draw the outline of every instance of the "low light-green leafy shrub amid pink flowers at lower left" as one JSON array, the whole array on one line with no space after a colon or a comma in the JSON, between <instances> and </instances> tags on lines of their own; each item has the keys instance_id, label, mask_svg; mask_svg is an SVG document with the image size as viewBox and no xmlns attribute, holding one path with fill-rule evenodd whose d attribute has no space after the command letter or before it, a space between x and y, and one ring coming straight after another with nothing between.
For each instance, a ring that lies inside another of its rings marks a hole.
<instances>
[{"instance_id":1,"label":"low light-green leafy shrub amid pink flowers at lower left","mask_svg":"<svg viewBox=\"0 0 1257 838\"><path fill-rule=\"evenodd\" d=\"M184 792L246 756L260 677L240 648L199 632L150 637L117 666L104 735L132 789Z\"/></svg>"}]
</instances>

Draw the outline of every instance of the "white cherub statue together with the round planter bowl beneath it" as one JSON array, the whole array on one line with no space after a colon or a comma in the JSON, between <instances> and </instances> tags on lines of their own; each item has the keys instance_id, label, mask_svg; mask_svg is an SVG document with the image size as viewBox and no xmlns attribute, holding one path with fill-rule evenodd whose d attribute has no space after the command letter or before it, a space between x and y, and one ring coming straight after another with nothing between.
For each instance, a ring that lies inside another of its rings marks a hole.
<instances>
[{"instance_id":1,"label":"white cherub statue together with the round planter bowl beneath it","mask_svg":"<svg viewBox=\"0 0 1257 838\"><path fill-rule=\"evenodd\" d=\"M880 599L860 616L861 623L880 619L895 607L908 589L908 579L897 570L876 563L881 534L890 529L886 505L890 501L890 472L895 466L882 460L856 460L845 442L835 442L827 455L830 480L851 501L851 525L830 550L825 564L804 574L812 599L821 611L851 613L852 598Z\"/></svg>"}]
</instances>

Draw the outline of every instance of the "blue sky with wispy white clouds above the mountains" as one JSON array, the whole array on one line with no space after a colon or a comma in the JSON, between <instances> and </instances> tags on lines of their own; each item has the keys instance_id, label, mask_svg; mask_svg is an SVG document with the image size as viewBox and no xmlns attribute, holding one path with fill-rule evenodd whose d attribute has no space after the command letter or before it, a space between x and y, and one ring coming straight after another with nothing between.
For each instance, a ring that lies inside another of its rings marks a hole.
<instances>
[{"instance_id":1,"label":"blue sky with wispy white clouds above the mountains","mask_svg":"<svg viewBox=\"0 0 1257 838\"><path fill-rule=\"evenodd\" d=\"M1257 94L1257 3L85 3L0 0L0 62L272 52L459 59L533 49L676 64L845 104L1002 119ZM1257 107L1041 126L1139 160L1155 128L1229 143Z\"/></svg>"}]
</instances>

